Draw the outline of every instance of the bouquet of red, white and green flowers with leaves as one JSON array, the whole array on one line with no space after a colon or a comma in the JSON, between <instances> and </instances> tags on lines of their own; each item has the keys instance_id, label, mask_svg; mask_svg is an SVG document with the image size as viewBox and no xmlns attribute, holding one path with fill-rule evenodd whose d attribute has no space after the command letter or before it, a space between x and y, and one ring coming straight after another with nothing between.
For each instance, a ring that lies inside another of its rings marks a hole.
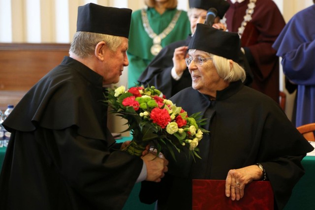
<instances>
[{"instance_id":1,"label":"bouquet of red, white and green flowers with leaves","mask_svg":"<svg viewBox=\"0 0 315 210\"><path fill-rule=\"evenodd\" d=\"M200 113L187 116L181 107L165 99L155 87L144 86L126 90L124 86L107 89L105 102L111 113L127 120L128 129L133 136L126 148L132 155L141 156L148 144L157 152L168 150L175 159L174 150L188 150L189 156L200 158L197 154L198 142L204 133L201 128L206 119Z\"/></svg>"}]
</instances>

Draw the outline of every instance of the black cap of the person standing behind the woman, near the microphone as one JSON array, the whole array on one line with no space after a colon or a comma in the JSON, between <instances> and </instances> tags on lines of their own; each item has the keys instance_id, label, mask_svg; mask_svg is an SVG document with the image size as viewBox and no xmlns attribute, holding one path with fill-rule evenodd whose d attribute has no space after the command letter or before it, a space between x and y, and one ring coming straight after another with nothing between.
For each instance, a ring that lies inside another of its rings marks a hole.
<instances>
[{"instance_id":1,"label":"black cap of the person standing behind the woman, near the microphone","mask_svg":"<svg viewBox=\"0 0 315 210\"><path fill-rule=\"evenodd\" d=\"M222 19L230 4L226 0L189 0L189 8L207 10L214 7L218 10L218 16Z\"/></svg>"}]
</instances>

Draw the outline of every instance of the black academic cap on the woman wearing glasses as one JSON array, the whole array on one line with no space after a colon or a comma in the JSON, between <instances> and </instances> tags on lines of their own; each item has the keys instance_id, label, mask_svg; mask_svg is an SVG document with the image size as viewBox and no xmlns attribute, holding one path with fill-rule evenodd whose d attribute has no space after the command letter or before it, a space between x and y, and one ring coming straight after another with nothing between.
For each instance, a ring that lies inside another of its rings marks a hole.
<instances>
[{"instance_id":1,"label":"black academic cap on the woman wearing glasses","mask_svg":"<svg viewBox=\"0 0 315 210\"><path fill-rule=\"evenodd\" d=\"M205 51L238 62L241 41L235 32L218 30L198 23L188 49Z\"/></svg>"}]
</instances>

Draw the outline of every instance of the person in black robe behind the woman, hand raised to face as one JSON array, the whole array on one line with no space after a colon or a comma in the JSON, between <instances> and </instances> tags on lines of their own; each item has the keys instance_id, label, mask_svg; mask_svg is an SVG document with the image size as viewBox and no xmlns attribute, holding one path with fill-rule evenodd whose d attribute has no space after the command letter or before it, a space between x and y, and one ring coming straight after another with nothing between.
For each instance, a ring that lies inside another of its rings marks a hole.
<instances>
[{"instance_id":1,"label":"person in black robe behind the woman, hand raised to face","mask_svg":"<svg viewBox=\"0 0 315 210\"><path fill-rule=\"evenodd\" d=\"M225 26L220 23L229 4L225 0L189 0L188 17L190 21L190 32L186 40L174 42L164 47L161 52L150 62L138 81L144 86L155 86L161 90L166 98L170 98L180 90L191 86L191 76L185 63L187 47L191 35L196 30L197 23L204 23L207 11L215 8L218 11L217 17L212 25L216 29L225 30ZM242 60L245 63L246 60ZM248 67L249 69L249 67ZM252 81L251 75L247 77L247 84Z\"/></svg>"}]
</instances>

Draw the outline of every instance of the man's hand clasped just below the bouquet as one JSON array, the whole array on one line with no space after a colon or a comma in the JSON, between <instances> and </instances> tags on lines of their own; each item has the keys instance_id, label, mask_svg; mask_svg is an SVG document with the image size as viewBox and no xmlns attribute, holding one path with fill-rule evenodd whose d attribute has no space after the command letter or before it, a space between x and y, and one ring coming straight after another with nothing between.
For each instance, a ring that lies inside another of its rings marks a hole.
<instances>
[{"instance_id":1,"label":"man's hand clasped just below the bouquet","mask_svg":"<svg viewBox=\"0 0 315 210\"><path fill-rule=\"evenodd\" d=\"M157 157L156 154L148 153L141 157L147 166L147 181L161 181L164 173L167 172L168 161L164 158Z\"/></svg>"}]
</instances>

